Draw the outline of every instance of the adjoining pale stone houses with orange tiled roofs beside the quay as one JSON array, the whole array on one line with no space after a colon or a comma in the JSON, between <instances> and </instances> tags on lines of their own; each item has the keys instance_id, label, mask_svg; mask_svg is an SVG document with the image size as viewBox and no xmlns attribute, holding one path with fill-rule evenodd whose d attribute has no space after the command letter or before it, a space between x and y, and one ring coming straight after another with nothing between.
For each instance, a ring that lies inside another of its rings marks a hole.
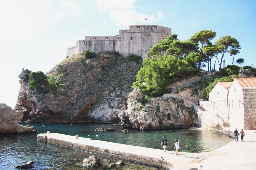
<instances>
[{"instance_id":1,"label":"adjoining pale stone houses with orange tiled roofs beside the quay","mask_svg":"<svg viewBox=\"0 0 256 170\"><path fill-rule=\"evenodd\" d=\"M209 93L209 101L200 101L202 114L215 114L223 127L256 129L256 78L235 78L233 82L218 82ZM227 127L227 126L226 126Z\"/></svg>"}]
</instances>

